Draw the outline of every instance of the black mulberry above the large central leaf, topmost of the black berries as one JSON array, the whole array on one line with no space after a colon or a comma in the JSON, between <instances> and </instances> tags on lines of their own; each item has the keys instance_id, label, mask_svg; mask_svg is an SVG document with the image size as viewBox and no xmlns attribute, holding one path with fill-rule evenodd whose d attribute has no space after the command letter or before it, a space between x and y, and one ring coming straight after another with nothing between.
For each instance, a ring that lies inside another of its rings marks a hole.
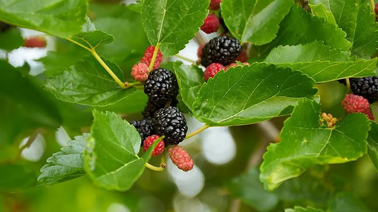
<instances>
[{"instance_id":1,"label":"black mulberry above the large central leaf, topmost of the black berries","mask_svg":"<svg viewBox=\"0 0 378 212\"><path fill-rule=\"evenodd\" d=\"M239 40L227 35L212 38L203 47L201 63L207 67L210 63L229 65L242 53L242 45Z\"/></svg>"}]
</instances>

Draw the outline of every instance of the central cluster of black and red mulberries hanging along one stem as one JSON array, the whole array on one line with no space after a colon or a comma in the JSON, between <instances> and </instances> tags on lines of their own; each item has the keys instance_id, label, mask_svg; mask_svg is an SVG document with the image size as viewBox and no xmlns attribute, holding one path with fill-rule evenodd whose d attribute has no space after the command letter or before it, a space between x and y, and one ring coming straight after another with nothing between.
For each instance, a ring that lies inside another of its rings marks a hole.
<instances>
[{"instance_id":1,"label":"central cluster of black and red mulberries hanging along one stem","mask_svg":"<svg viewBox=\"0 0 378 212\"><path fill-rule=\"evenodd\" d=\"M152 71L149 70L154 51L154 46L147 47L141 61L132 68L132 77L139 83L144 83L144 93L148 96L148 101L142 112L144 118L132 121L131 124L143 140L144 151L164 135L165 138L153 150L152 157L161 155L166 146L175 145L173 148L175 157L171 157L172 161L183 171L189 171L193 168L193 160L182 147L177 146L185 139L188 128L184 115L176 108L179 90L176 75L168 69L159 68L163 61L160 50L156 55ZM177 158L184 158L182 159L184 162Z\"/></svg>"}]
</instances>

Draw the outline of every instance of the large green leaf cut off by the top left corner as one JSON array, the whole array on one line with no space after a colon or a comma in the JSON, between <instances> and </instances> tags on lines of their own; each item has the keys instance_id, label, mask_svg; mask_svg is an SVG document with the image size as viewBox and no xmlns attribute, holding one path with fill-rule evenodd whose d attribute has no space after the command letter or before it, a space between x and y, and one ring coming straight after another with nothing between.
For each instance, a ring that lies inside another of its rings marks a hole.
<instances>
[{"instance_id":1,"label":"large green leaf cut off by the top left corner","mask_svg":"<svg viewBox=\"0 0 378 212\"><path fill-rule=\"evenodd\" d=\"M62 38L81 30L86 12L86 0L0 1L0 20Z\"/></svg>"}]
</instances>

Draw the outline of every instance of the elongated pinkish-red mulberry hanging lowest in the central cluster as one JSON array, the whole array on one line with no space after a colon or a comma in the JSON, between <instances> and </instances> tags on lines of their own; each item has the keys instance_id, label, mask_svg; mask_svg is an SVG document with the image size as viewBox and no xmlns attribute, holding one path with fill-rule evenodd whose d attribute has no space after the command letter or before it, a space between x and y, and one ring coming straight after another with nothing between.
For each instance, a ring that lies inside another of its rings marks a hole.
<instances>
[{"instance_id":1,"label":"elongated pinkish-red mulberry hanging lowest in the central cluster","mask_svg":"<svg viewBox=\"0 0 378 212\"><path fill-rule=\"evenodd\" d=\"M173 146L168 149L170 160L182 171L190 171L193 169L194 161L190 155L181 146Z\"/></svg>"}]
</instances>

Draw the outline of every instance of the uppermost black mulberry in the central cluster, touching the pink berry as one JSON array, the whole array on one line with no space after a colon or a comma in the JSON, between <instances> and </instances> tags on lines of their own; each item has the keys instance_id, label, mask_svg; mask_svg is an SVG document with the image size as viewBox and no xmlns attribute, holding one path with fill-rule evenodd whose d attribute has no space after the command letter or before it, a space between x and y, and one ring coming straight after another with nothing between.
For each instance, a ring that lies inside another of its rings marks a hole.
<instances>
[{"instance_id":1,"label":"uppermost black mulberry in the central cluster, touching the pink berry","mask_svg":"<svg viewBox=\"0 0 378 212\"><path fill-rule=\"evenodd\" d=\"M172 101L178 94L178 84L174 73L168 69L158 68L150 72L144 93L154 104L163 104Z\"/></svg>"}]
</instances>

